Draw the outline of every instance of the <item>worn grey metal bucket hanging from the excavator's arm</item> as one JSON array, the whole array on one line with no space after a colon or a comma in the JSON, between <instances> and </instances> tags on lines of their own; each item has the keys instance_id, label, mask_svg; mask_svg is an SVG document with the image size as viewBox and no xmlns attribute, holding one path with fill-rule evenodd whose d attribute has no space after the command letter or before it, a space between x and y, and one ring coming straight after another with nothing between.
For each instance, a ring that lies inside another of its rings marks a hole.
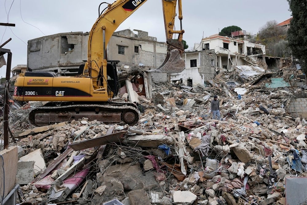
<instances>
[{"instance_id":1,"label":"worn grey metal bucket hanging from the excavator's arm","mask_svg":"<svg viewBox=\"0 0 307 205\"><path fill-rule=\"evenodd\" d=\"M165 73L180 73L185 69L185 61L181 58L179 50L173 49L171 54L167 54L165 61L159 67Z\"/></svg>"}]
</instances>

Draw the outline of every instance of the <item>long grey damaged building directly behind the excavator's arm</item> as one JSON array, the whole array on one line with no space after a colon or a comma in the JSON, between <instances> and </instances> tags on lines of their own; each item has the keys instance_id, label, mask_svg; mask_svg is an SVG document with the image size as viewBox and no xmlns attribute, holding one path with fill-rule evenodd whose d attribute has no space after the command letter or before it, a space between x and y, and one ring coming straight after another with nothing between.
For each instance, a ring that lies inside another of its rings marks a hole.
<instances>
[{"instance_id":1,"label":"long grey damaged building directly behind the excavator's arm","mask_svg":"<svg viewBox=\"0 0 307 205\"><path fill-rule=\"evenodd\" d=\"M166 43L157 42L148 32L127 29L114 32L107 46L107 56L121 64L158 67L166 56ZM89 33L70 32L28 41L27 65L33 71L53 71L75 76L87 59ZM48 60L46 60L48 59Z\"/></svg>"}]
</instances>

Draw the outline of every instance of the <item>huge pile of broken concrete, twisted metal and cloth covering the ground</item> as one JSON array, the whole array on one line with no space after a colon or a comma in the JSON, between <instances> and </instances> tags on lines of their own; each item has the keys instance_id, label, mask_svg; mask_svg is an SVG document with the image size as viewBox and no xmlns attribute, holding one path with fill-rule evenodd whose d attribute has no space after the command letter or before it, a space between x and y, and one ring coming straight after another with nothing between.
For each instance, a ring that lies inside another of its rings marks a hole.
<instances>
[{"instance_id":1,"label":"huge pile of broken concrete, twisted metal and cloth covering the ground","mask_svg":"<svg viewBox=\"0 0 307 205\"><path fill-rule=\"evenodd\" d=\"M266 79L230 88L226 74L153 86L135 126L83 118L34 128L31 104L11 111L18 167L30 163L17 171L19 202L286 204L286 178L307 170L307 123L285 110L295 92ZM221 120L211 119L214 95Z\"/></svg>"}]
</instances>

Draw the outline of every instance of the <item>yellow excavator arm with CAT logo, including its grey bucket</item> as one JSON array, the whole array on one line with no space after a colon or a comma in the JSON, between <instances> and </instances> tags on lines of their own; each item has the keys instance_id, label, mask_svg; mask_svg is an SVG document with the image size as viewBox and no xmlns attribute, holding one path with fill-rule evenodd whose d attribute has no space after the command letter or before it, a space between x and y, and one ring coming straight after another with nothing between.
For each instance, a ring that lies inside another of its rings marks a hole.
<instances>
[{"instance_id":1,"label":"yellow excavator arm with CAT logo, including its grey bucket","mask_svg":"<svg viewBox=\"0 0 307 205\"><path fill-rule=\"evenodd\" d=\"M106 88L107 81L100 82L99 76L107 76L106 46L118 26L125 21L134 11L147 0L117 0L108 4L107 9L94 23L88 39L87 62L83 74L93 79L94 89ZM181 43L184 30L174 30L176 6L178 1L179 20L182 20L181 0L162 0L163 16L165 22L166 42L168 46L167 56L159 69L166 73L180 73L185 68L181 58L183 45ZM181 26L182 27L182 26ZM173 39L173 34L179 34L178 39ZM170 69L168 69L170 68Z\"/></svg>"}]
</instances>

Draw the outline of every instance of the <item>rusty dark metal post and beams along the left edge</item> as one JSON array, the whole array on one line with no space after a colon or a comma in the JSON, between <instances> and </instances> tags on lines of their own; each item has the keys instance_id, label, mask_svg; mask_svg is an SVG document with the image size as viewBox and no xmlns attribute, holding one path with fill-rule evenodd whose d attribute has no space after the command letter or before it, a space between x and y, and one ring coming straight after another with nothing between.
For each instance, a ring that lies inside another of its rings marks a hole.
<instances>
[{"instance_id":1,"label":"rusty dark metal post and beams along the left edge","mask_svg":"<svg viewBox=\"0 0 307 205\"><path fill-rule=\"evenodd\" d=\"M0 23L0 26L15 26L11 23ZM10 87L10 74L12 65L12 52L9 49L3 49L2 47L10 42L12 38L0 45L0 56L7 53L7 65L6 65L6 77L5 77L5 90L4 90L4 112L3 112L3 138L4 149L9 147L9 87Z\"/></svg>"}]
</instances>

